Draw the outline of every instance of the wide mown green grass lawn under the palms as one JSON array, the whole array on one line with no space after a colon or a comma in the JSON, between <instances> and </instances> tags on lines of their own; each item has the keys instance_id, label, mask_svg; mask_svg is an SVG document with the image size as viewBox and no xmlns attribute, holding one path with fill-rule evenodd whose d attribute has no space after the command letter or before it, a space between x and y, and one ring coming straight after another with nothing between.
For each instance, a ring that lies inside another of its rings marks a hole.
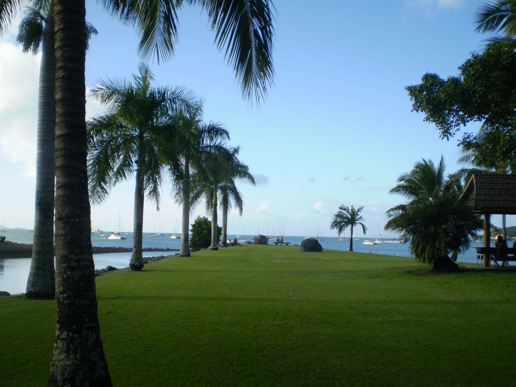
<instances>
[{"instance_id":1,"label":"wide mown green grass lawn under the palms","mask_svg":"<svg viewBox=\"0 0 516 387\"><path fill-rule=\"evenodd\" d=\"M425 267L426 268L426 267ZM516 272L297 247L199 251L97 279L116 386L515 386ZM0 385L43 386L54 301L0 299Z\"/></svg>"}]
</instances>

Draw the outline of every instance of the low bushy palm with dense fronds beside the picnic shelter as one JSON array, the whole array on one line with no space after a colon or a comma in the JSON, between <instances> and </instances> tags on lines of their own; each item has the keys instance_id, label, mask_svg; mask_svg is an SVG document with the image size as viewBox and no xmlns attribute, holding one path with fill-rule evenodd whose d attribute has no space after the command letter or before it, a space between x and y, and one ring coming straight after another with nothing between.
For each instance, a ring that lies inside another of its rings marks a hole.
<instances>
[{"instance_id":1,"label":"low bushy palm with dense fronds beside the picnic shelter","mask_svg":"<svg viewBox=\"0 0 516 387\"><path fill-rule=\"evenodd\" d=\"M444 160L438 165L425 159L402 174L390 192L408 199L387 211L386 230L409 236L410 252L418 262L436 271L457 270L452 261L470 246L482 228L480 215L460 195L456 175L446 178ZM451 260L450 260L451 255Z\"/></svg>"}]
</instances>

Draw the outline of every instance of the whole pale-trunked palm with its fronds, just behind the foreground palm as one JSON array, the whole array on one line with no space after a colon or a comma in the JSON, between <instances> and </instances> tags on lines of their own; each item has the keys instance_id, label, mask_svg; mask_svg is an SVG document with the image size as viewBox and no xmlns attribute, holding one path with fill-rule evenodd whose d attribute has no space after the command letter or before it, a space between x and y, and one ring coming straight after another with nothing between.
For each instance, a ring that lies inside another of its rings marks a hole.
<instances>
[{"instance_id":1,"label":"whole pale-trunked palm with its fronds, just behind the foreground palm","mask_svg":"<svg viewBox=\"0 0 516 387\"><path fill-rule=\"evenodd\" d=\"M26 297L52 299L54 283L54 138L56 109L54 101L54 2L34 1L20 23L17 41L23 52L38 54L39 74L38 125L36 151L36 200L34 211L33 252L27 279ZM86 25L87 37L96 34Z\"/></svg>"}]
</instances>

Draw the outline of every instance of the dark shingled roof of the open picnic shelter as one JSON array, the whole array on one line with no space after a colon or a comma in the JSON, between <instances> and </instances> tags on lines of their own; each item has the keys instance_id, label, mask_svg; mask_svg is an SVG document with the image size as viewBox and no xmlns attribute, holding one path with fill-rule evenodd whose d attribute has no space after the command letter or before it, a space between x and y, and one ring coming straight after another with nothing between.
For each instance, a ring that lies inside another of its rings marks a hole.
<instances>
[{"instance_id":1,"label":"dark shingled roof of the open picnic shelter","mask_svg":"<svg viewBox=\"0 0 516 387\"><path fill-rule=\"evenodd\" d=\"M516 174L474 174L463 196L482 214L516 214Z\"/></svg>"}]
</instances>

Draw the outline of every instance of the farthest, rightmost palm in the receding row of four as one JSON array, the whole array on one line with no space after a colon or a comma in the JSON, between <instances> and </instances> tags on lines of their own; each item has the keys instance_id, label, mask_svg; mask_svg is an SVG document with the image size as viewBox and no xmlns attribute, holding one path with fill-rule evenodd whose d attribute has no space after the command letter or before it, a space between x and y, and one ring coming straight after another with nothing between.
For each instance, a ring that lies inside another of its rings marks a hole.
<instances>
[{"instance_id":1,"label":"farthest, rightmost palm in the receding row of four","mask_svg":"<svg viewBox=\"0 0 516 387\"><path fill-rule=\"evenodd\" d=\"M220 195L220 209L222 211L222 238L221 246L228 247L228 211L232 208L232 203L238 209L238 213L242 216L244 212L244 200L235 180L247 180L252 185L255 185L253 175L249 172L249 167L241 163L238 159L240 147L230 148L226 154L224 178L219 186Z\"/></svg>"}]
</instances>

